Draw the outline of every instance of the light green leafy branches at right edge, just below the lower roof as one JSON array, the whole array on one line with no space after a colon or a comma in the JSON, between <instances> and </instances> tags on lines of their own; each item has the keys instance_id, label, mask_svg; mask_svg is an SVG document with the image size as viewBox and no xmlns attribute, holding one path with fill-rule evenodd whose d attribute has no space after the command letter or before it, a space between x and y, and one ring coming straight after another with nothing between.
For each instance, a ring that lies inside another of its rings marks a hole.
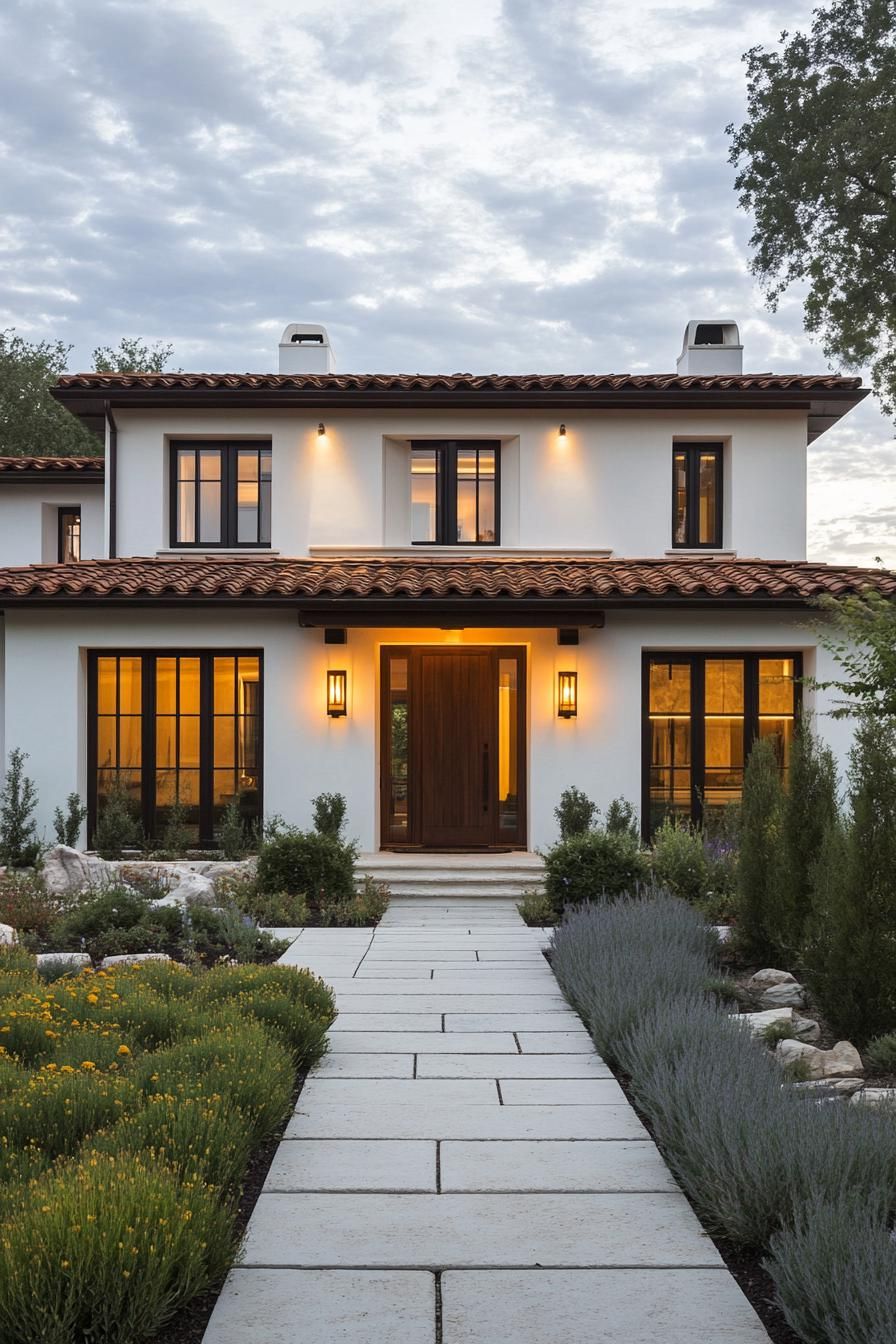
<instances>
[{"instance_id":1,"label":"light green leafy branches at right edge, just below the lower roof","mask_svg":"<svg viewBox=\"0 0 896 1344\"><path fill-rule=\"evenodd\" d=\"M896 601L869 589L861 597L821 598L818 606L829 617L818 641L844 671L841 680L814 683L846 696L832 718L896 719Z\"/></svg>"}]
</instances>

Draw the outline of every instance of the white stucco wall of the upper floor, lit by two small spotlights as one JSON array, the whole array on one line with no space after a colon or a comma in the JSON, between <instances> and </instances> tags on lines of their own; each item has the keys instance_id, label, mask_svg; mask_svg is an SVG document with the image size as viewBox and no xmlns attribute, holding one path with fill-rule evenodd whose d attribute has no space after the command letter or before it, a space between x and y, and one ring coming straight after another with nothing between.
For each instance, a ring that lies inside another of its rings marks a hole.
<instances>
[{"instance_id":1,"label":"white stucco wall of the upper floor, lit by two small spotlights","mask_svg":"<svg viewBox=\"0 0 896 1344\"><path fill-rule=\"evenodd\" d=\"M273 548L410 543L408 442L502 442L501 544L661 556L672 542L672 445L725 444L724 548L806 554L799 411L118 411L118 554L169 547L171 438L270 437ZM324 421L326 435L317 433Z\"/></svg>"}]
</instances>

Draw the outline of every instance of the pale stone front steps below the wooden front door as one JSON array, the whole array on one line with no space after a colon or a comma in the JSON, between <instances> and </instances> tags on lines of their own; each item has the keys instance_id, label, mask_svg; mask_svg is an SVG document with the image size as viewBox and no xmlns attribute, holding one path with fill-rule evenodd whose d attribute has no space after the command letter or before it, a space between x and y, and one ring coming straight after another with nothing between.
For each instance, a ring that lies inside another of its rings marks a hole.
<instances>
[{"instance_id":1,"label":"pale stone front steps below the wooden front door","mask_svg":"<svg viewBox=\"0 0 896 1344\"><path fill-rule=\"evenodd\" d=\"M434 900L520 900L544 884L536 853L364 853L357 874L384 882L394 896Z\"/></svg>"}]
</instances>

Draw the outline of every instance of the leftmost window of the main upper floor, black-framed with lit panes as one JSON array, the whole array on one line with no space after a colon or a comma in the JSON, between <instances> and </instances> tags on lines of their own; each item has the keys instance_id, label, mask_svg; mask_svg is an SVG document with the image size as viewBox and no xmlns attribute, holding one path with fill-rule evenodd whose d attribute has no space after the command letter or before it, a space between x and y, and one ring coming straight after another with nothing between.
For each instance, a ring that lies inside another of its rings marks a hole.
<instances>
[{"instance_id":1,"label":"leftmost window of the main upper floor, black-framed with lit panes","mask_svg":"<svg viewBox=\"0 0 896 1344\"><path fill-rule=\"evenodd\" d=\"M171 445L171 544L270 546L266 444Z\"/></svg>"}]
</instances>

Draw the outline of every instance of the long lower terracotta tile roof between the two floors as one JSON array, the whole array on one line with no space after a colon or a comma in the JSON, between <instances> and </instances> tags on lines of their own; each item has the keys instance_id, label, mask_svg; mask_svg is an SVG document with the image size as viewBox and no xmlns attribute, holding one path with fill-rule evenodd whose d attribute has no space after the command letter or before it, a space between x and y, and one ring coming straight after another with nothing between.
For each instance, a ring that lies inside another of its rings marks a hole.
<instances>
[{"instance_id":1,"label":"long lower terracotta tile roof between the two floors","mask_svg":"<svg viewBox=\"0 0 896 1344\"><path fill-rule=\"evenodd\" d=\"M0 607L20 602L220 602L312 606L368 599L578 599L610 606L802 605L873 587L896 573L785 560L404 556L175 556L0 570Z\"/></svg>"}]
</instances>

